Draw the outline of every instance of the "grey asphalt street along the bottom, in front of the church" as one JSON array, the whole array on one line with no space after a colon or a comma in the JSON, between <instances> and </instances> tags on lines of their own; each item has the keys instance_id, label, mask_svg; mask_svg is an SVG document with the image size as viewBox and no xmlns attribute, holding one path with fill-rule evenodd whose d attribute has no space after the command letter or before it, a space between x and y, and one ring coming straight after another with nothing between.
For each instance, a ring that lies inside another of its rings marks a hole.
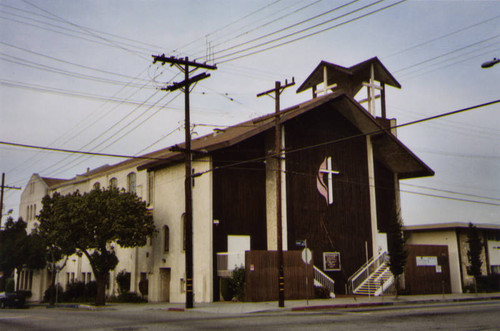
<instances>
[{"instance_id":1,"label":"grey asphalt street along the bottom, in front of the church","mask_svg":"<svg viewBox=\"0 0 500 331\"><path fill-rule=\"evenodd\" d=\"M500 330L500 301L221 314L34 307L0 311L0 330Z\"/></svg>"}]
</instances>

